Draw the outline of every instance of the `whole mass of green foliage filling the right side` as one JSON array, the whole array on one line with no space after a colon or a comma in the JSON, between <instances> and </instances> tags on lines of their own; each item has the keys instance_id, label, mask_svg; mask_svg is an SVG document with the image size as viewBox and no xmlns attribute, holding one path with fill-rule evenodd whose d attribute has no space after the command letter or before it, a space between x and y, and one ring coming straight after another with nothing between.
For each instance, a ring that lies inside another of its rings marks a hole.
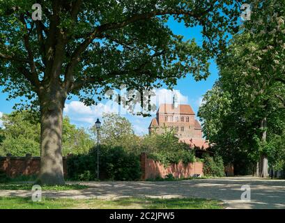
<instances>
[{"instance_id":1,"label":"whole mass of green foliage filling the right side","mask_svg":"<svg viewBox=\"0 0 285 223\"><path fill-rule=\"evenodd\" d=\"M252 10L258 13L219 56L220 77L199 116L226 162L256 162L267 155L275 164L284 157L284 2L253 1Z\"/></svg>"}]
</instances>

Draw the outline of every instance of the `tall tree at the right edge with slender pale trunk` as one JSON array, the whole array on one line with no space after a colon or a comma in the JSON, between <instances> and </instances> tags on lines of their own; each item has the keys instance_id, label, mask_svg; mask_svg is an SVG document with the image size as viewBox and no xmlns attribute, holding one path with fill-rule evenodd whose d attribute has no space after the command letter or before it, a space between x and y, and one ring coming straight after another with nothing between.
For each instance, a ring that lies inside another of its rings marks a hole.
<instances>
[{"instance_id":1,"label":"tall tree at the right edge with slender pale trunk","mask_svg":"<svg viewBox=\"0 0 285 223\"><path fill-rule=\"evenodd\" d=\"M261 107L265 107L261 111L263 117L260 121L263 132L260 145L265 148L265 151L261 152L259 160L259 176L267 176L268 118L279 109L284 109L284 100L281 95L285 85L285 5L283 1L263 0L254 1L252 7L255 13L252 15L252 22L245 23L245 32L249 33L249 41L256 47L252 47L249 51L245 62L249 65L249 75L256 79L260 90L252 91L251 96L257 99L255 101ZM277 100L273 105L272 97ZM274 107L275 105L277 107Z\"/></svg>"}]
</instances>

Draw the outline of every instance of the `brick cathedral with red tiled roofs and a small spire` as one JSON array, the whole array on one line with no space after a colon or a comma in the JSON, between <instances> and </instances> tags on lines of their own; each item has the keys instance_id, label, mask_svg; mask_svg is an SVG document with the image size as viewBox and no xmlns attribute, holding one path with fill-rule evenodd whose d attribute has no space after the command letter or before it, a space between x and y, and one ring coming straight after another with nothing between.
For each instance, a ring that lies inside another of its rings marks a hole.
<instances>
[{"instance_id":1,"label":"brick cathedral with red tiled roofs and a small spire","mask_svg":"<svg viewBox=\"0 0 285 223\"><path fill-rule=\"evenodd\" d=\"M195 113L190 105L178 105L175 94L172 104L161 104L148 127L148 132L162 134L166 130L175 130L179 141L189 144L192 148L208 148L203 139L201 125L195 119Z\"/></svg>"}]
</instances>

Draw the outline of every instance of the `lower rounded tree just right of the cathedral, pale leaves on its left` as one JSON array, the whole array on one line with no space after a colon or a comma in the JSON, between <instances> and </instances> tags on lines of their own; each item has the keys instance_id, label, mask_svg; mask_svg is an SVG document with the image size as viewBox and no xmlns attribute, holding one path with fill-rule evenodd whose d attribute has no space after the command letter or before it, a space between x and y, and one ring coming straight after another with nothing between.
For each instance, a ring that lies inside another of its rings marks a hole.
<instances>
[{"instance_id":1,"label":"lower rounded tree just right of the cathedral, pale leaves on its left","mask_svg":"<svg viewBox=\"0 0 285 223\"><path fill-rule=\"evenodd\" d=\"M220 82L204 95L199 108L203 133L213 145L211 150L221 155L225 164L234 165L235 174L251 174L252 165L259 158L254 140L259 123L245 118L244 101L231 95L235 89L222 89Z\"/></svg>"}]
</instances>

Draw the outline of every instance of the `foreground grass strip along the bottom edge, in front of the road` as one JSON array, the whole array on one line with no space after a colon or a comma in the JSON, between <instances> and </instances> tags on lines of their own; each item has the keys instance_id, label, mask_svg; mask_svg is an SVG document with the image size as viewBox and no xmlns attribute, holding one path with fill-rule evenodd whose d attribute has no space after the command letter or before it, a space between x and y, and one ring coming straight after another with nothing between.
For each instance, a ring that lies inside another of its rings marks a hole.
<instances>
[{"instance_id":1,"label":"foreground grass strip along the bottom edge, in front of the road","mask_svg":"<svg viewBox=\"0 0 285 223\"><path fill-rule=\"evenodd\" d=\"M31 198L0 197L0 209L221 209L221 201L206 199L151 199L122 198L102 199L42 199L33 202Z\"/></svg>"}]
</instances>

